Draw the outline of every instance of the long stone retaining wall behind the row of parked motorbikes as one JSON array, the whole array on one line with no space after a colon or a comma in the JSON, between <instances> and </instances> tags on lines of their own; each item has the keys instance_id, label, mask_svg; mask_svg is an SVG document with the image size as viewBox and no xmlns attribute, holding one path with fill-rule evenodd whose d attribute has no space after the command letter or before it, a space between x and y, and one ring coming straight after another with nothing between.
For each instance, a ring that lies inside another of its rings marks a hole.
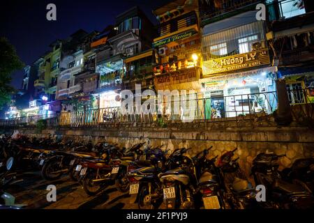
<instances>
[{"instance_id":1,"label":"long stone retaining wall behind the row of parked motorbikes","mask_svg":"<svg viewBox=\"0 0 314 223\"><path fill-rule=\"evenodd\" d=\"M43 130L40 134L35 130L20 129L21 134L29 136L47 137L63 136L75 140L107 140L119 146L132 146L140 141L147 140L152 146L164 144L167 148L192 148L190 155L195 155L204 148L213 146L209 156L220 156L225 151L238 148L239 164L246 174L251 174L251 164L258 153L265 151L285 154L280 159L280 169L290 167L297 158L314 157L314 132L307 128L269 128L258 129L227 129L211 132L170 132L169 130L140 130L110 131L100 129L75 130Z\"/></svg>"}]
</instances>

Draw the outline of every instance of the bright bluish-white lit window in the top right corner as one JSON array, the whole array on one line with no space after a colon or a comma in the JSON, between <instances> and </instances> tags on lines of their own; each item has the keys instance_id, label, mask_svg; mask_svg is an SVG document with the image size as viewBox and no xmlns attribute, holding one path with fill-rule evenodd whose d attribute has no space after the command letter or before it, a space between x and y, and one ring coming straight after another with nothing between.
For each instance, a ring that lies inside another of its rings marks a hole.
<instances>
[{"instance_id":1,"label":"bright bluish-white lit window in the top right corner","mask_svg":"<svg viewBox=\"0 0 314 223\"><path fill-rule=\"evenodd\" d=\"M303 0L282 0L278 2L281 16L294 17L306 13Z\"/></svg>"}]
</instances>

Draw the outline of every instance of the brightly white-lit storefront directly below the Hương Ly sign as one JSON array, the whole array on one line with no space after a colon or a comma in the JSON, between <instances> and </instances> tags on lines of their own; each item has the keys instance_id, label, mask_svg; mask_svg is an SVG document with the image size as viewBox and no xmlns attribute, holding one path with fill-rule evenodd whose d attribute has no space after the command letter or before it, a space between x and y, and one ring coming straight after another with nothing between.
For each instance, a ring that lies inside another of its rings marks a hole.
<instances>
[{"instance_id":1,"label":"brightly white-lit storefront directly below the H\u01b0\u01a1ng Ly sign","mask_svg":"<svg viewBox=\"0 0 314 223\"><path fill-rule=\"evenodd\" d=\"M201 79L206 118L227 118L276 109L276 67Z\"/></svg>"}]
</instances>

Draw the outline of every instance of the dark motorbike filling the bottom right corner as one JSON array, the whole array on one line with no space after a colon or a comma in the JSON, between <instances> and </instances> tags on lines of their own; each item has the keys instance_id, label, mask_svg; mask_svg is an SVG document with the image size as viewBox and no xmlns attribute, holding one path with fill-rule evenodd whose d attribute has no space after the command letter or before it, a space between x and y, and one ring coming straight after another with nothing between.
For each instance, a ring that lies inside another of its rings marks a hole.
<instances>
[{"instance_id":1,"label":"dark motorbike filling the bottom right corner","mask_svg":"<svg viewBox=\"0 0 314 223\"><path fill-rule=\"evenodd\" d=\"M313 208L313 194L301 181L289 183L281 178L278 159L285 155L260 153L253 160L252 174L256 185L266 187L268 203L274 208Z\"/></svg>"}]
</instances>

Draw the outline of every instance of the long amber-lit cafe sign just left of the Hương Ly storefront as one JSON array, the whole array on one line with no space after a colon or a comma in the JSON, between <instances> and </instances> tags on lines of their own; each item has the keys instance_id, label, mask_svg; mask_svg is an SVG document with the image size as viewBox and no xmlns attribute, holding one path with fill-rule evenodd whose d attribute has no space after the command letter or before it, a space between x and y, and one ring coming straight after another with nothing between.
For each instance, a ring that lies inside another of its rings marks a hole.
<instances>
[{"instance_id":1,"label":"long amber-lit cafe sign just left of the H\u01b0\u01a1ng Ly storefront","mask_svg":"<svg viewBox=\"0 0 314 223\"><path fill-rule=\"evenodd\" d=\"M174 71L165 75L158 75L154 79L154 83L158 86L167 86L171 84L181 84L185 82L194 82L197 80L196 69L186 69L184 71Z\"/></svg>"}]
</instances>

